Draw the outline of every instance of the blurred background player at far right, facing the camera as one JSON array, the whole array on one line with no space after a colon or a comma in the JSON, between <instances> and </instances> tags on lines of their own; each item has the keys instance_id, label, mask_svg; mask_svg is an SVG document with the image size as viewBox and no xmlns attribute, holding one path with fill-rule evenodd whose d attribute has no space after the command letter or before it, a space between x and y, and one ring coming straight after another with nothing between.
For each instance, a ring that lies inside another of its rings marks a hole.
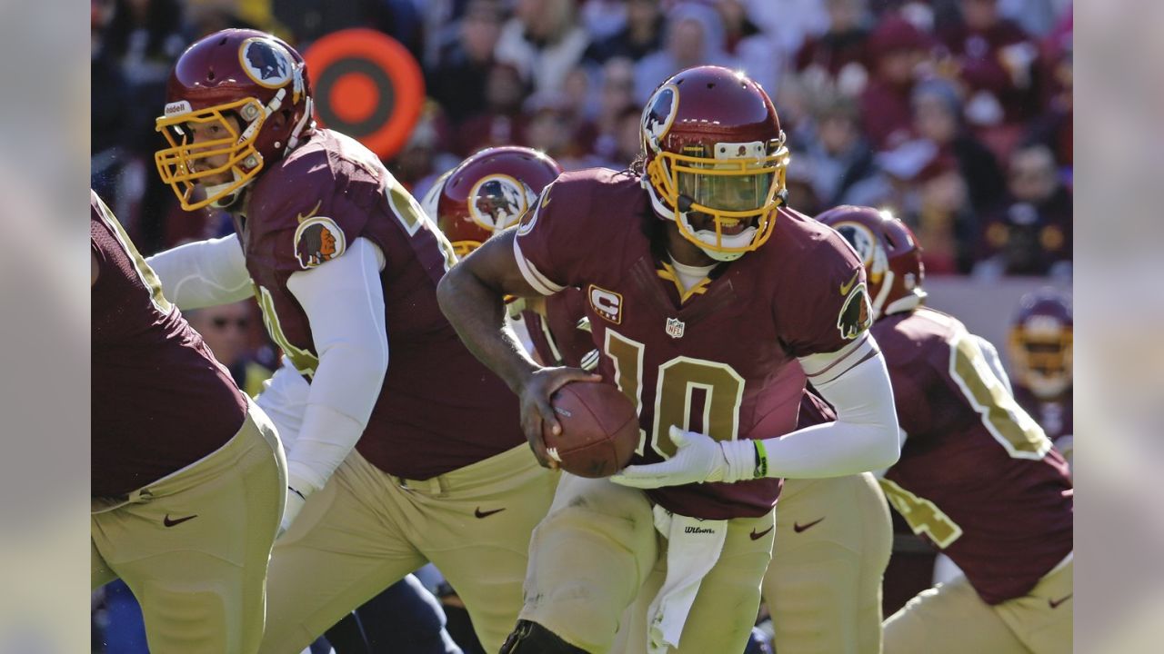
<instances>
[{"instance_id":1,"label":"blurred background player at far right, facing the camera","mask_svg":"<svg viewBox=\"0 0 1164 654\"><path fill-rule=\"evenodd\" d=\"M1023 296L1010 327L1015 399L1043 427L1067 460L1074 449L1072 426L1071 298L1044 289Z\"/></svg>"}]
</instances>

